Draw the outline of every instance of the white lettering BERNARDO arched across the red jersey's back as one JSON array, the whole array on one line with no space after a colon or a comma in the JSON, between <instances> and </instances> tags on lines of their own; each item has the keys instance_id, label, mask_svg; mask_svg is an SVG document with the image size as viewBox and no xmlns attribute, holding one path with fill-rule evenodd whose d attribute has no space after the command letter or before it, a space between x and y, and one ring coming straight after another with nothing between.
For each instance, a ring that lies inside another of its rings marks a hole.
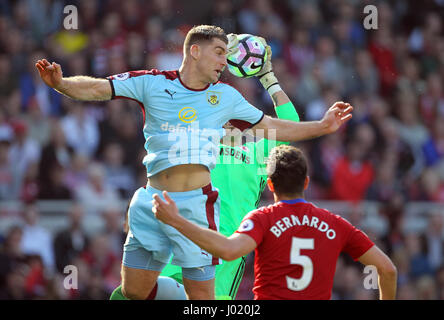
<instances>
[{"instance_id":1,"label":"white lettering BERNARDO arched across the red jersey's back","mask_svg":"<svg viewBox=\"0 0 444 320\"><path fill-rule=\"evenodd\" d=\"M314 216L312 216L310 220L305 214L302 217L302 221L293 214L289 217L283 217L276 221L276 223L270 228L270 231L276 236L276 238L279 238L283 232L295 226L308 226L318 229L320 232L325 232L326 237L330 240L333 240L336 237L336 232L333 229L330 229L328 223L319 220L319 218Z\"/></svg>"}]
</instances>

